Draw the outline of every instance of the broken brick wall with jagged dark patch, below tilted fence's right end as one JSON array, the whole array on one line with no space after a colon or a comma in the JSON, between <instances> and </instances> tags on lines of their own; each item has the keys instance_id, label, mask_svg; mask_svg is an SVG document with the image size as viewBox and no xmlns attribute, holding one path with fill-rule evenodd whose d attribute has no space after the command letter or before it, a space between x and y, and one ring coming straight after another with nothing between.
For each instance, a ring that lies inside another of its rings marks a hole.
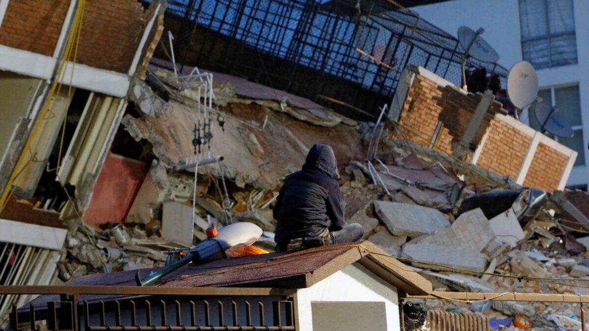
<instances>
[{"instance_id":1,"label":"broken brick wall with jagged dark patch, below tilted fence's right end","mask_svg":"<svg viewBox=\"0 0 589 331\"><path fill-rule=\"evenodd\" d=\"M399 118L404 128L403 135L413 143L428 146L434 137L438 121L442 121L444 128L438 138L436 150L452 154L453 145L462 140L462 135L481 98L480 93L464 94L456 90L454 86L441 86L417 74L409 88L408 97L405 99ZM489 122L497 112L505 112L505 110L502 110L499 102L494 101L475 134L473 147L482 139ZM472 148L472 151L474 149Z\"/></svg>"}]
</instances>

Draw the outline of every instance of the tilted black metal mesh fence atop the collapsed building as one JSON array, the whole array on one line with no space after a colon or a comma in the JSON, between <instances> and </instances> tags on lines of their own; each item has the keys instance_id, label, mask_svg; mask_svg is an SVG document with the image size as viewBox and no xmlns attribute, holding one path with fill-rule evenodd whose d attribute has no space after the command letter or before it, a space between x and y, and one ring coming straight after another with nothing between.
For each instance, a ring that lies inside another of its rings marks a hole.
<instances>
[{"instance_id":1,"label":"tilted black metal mesh fence atop the collapsed building","mask_svg":"<svg viewBox=\"0 0 589 331\"><path fill-rule=\"evenodd\" d=\"M170 0L166 27L176 37L178 62L249 77L347 115L358 115L354 107L377 114L408 65L461 85L464 54L454 35L386 0L356 3ZM467 63L481 67L508 73L472 58Z\"/></svg>"}]
</instances>

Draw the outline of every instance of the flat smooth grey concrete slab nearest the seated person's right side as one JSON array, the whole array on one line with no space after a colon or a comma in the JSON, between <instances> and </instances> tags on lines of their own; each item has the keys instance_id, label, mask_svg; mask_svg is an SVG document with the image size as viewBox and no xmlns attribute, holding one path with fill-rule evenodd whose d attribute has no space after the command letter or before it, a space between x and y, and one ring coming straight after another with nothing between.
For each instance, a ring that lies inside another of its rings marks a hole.
<instances>
[{"instance_id":1,"label":"flat smooth grey concrete slab nearest the seated person's right side","mask_svg":"<svg viewBox=\"0 0 589 331\"><path fill-rule=\"evenodd\" d=\"M434 208L389 201L375 201L374 206L376 215L395 236L418 237L450 226Z\"/></svg>"}]
</instances>

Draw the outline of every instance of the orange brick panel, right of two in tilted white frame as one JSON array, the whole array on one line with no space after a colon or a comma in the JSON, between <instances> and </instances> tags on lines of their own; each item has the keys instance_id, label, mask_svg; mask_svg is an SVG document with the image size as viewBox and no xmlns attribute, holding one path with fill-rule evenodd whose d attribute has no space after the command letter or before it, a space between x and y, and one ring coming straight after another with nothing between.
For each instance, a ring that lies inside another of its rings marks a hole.
<instances>
[{"instance_id":1,"label":"orange brick panel, right of two in tilted white frame","mask_svg":"<svg viewBox=\"0 0 589 331\"><path fill-rule=\"evenodd\" d=\"M554 191L567 162L567 155L561 154L545 144L538 144L532 164L525 176L524 185Z\"/></svg>"}]
</instances>

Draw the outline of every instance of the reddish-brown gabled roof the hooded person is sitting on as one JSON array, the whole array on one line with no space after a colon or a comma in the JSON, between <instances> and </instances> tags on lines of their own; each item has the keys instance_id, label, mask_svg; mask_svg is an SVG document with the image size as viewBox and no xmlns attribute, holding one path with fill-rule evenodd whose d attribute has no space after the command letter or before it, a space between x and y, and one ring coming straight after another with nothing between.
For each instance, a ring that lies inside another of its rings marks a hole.
<instances>
[{"instance_id":1,"label":"reddish-brown gabled roof the hooded person is sitting on","mask_svg":"<svg viewBox=\"0 0 589 331\"><path fill-rule=\"evenodd\" d=\"M428 280L370 241L316 247L294 253L269 253L236 259L189 264L164 277L163 287L275 287L301 289L311 287L352 263L358 262L370 272L412 295L432 292ZM140 270L142 277L162 267ZM65 283L70 286L134 286L137 270L90 274ZM125 296L83 295L81 300L124 299ZM36 307L58 301L57 295L34 300Z\"/></svg>"}]
</instances>

